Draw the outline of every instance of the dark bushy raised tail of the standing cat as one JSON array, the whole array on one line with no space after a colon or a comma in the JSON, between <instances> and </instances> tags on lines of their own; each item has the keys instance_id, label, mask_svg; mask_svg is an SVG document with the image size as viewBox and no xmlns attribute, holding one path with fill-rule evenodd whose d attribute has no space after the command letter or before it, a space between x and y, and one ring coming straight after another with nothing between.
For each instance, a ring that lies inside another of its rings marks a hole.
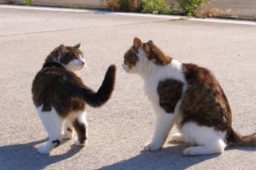
<instances>
[{"instance_id":1,"label":"dark bushy raised tail of the standing cat","mask_svg":"<svg viewBox=\"0 0 256 170\"><path fill-rule=\"evenodd\" d=\"M107 69L104 80L98 92L95 93L92 89L84 87L79 96L92 107L100 107L110 99L111 93L114 90L116 66L110 65Z\"/></svg>"}]
</instances>

